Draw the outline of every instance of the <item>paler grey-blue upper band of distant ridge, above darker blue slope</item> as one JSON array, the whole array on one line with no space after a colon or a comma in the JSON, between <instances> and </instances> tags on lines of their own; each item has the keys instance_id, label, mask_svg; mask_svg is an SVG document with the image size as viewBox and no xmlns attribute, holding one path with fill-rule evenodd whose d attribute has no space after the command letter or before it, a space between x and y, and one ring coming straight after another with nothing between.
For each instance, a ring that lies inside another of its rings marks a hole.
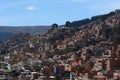
<instances>
[{"instance_id":1,"label":"paler grey-blue upper band of distant ridge, above darker blue slope","mask_svg":"<svg viewBox=\"0 0 120 80\"><path fill-rule=\"evenodd\" d=\"M0 26L0 32L8 33L45 33L49 26L24 26L24 27L12 27L12 26Z\"/></svg>"}]
</instances>

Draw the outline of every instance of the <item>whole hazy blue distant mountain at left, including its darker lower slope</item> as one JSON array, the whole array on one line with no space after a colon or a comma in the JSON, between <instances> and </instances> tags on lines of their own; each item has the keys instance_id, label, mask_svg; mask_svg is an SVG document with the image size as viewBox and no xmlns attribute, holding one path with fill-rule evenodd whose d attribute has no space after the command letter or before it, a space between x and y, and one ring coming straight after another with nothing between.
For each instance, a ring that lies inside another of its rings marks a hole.
<instances>
[{"instance_id":1,"label":"whole hazy blue distant mountain at left, including its darker lower slope","mask_svg":"<svg viewBox=\"0 0 120 80\"><path fill-rule=\"evenodd\" d=\"M32 34L35 33L44 34L49 28L50 26L24 26L24 27L0 26L0 42L7 40L14 34L20 32Z\"/></svg>"}]
</instances>

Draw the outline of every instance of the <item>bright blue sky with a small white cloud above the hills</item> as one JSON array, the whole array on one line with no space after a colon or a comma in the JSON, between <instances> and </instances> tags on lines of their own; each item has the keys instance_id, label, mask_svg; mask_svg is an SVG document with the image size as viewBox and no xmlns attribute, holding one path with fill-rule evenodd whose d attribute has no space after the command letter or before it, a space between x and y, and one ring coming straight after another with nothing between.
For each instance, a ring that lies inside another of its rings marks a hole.
<instances>
[{"instance_id":1,"label":"bright blue sky with a small white cloud above the hills","mask_svg":"<svg viewBox=\"0 0 120 80\"><path fill-rule=\"evenodd\" d=\"M0 0L0 26L65 24L120 9L120 0Z\"/></svg>"}]
</instances>

